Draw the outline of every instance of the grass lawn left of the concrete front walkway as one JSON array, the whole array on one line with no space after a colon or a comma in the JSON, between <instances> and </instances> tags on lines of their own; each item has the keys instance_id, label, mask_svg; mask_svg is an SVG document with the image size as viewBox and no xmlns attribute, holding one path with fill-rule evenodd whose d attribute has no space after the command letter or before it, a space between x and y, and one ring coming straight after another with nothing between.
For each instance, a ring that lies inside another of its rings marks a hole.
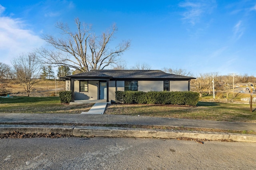
<instances>
[{"instance_id":1,"label":"grass lawn left of the concrete front walkway","mask_svg":"<svg viewBox=\"0 0 256 170\"><path fill-rule=\"evenodd\" d=\"M64 105L59 97L0 98L0 113L81 113L93 105Z\"/></svg>"}]
</instances>

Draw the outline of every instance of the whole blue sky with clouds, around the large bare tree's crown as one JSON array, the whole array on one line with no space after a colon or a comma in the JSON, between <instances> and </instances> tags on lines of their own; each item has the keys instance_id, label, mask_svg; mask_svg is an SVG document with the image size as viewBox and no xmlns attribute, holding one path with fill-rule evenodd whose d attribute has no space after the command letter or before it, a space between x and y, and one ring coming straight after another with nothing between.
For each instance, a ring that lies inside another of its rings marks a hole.
<instances>
[{"instance_id":1,"label":"whole blue sky with clouds, around the large bare tree's crown","mask_svg":"<svg viewBox=\"0 0 256 170\"><path fill-rule=\"evenodd\" d=\"M131 40L127 68L174 68L200 73L255 76L256 0L0 0L0 62L45 46L59 36L57 21L92 24L100 35L113 23L113 43Z\"/></svg>"}]
</instances>

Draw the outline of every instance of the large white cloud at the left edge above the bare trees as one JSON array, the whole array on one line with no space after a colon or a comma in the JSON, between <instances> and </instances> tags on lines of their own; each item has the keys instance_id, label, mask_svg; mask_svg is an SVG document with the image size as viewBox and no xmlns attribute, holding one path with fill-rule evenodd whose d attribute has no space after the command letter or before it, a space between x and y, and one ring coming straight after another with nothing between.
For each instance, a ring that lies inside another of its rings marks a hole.
<instances>
[{"instance_id":1,"label":"large white cloud at the left edge above the bare trees","mask_svg":"<svg viewBox=\"0 0 256 170\"><path fill-rule=\"evenodd\" d=\"M20 19L0 16L0 61L10 64L12 59L22 53L32 52L44 45L38 35L24 29Z\"/></svg>"}]
</instances>

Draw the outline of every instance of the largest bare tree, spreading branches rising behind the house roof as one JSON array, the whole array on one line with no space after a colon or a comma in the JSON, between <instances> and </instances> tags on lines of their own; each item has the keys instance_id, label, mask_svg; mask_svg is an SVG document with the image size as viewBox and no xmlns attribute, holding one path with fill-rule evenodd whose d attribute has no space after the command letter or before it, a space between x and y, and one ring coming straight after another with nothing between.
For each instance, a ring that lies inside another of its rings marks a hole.
<instances>
[{"instance_id":1,"label":"largest bare tree, spreading branches rising behind the house roof","mask_svg":"<svg viewBox=\"0 0 256 170\"><path fill-rule=\"evenodd\" d=\"M44 35L43 39L58 50L37 49L44 63L68 66L80 72L99 70L118 63L119 56L130 47L130 41L122 41L115 49L110 49L109 43L118 30L115 24L99 37L92 31L92 27L81 24L78 18L75 24L77 31L72 32L67 24L56 23L62 38Z\"/></svg>"}]
</instances>

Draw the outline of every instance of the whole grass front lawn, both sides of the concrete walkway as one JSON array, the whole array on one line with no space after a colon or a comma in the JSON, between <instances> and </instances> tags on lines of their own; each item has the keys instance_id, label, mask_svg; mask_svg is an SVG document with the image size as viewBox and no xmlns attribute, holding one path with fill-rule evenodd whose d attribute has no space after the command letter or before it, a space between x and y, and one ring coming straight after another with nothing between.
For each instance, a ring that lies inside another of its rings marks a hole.
<instances>
[{"instance_id":1,"label":"whole grass front lawn, both sides of the concrete walkway","mask_svg":"<svg viewBox=\"0 0 256 170\"><path fill-rule=\"evenodd\" d=\"M59 97L0 98L0 113L81 113L94 104L60 104ZM141 115L216 121L256 122L256 104L250 113L249 104L198 102L196 107L146 104L112 104L104 114Z\"/></svg>"}]
</instances>

